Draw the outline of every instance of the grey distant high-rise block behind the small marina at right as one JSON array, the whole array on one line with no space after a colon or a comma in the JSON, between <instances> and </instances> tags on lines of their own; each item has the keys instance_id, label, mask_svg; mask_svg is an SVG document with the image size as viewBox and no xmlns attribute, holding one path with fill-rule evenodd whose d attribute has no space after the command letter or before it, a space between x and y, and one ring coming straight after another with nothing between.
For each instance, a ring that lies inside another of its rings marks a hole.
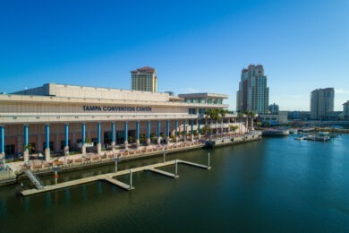
<instances>
[{"instance_id":1,"label":"grey distant high-rise block behind the small marina at right","mask_svg":"<svg viewBox=\"0 0 349 233\"><path fill-rule=\"evenodd\" d=\"M326 118L333 111L335 89L325 88L311 91L311 119Z\"/></svg>"}]
</instances>

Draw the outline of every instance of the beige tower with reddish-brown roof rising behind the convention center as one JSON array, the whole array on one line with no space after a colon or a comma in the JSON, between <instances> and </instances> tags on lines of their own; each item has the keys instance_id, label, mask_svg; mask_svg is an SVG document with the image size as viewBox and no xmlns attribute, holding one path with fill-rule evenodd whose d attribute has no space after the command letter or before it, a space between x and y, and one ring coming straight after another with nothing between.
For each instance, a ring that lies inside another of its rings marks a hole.
<instances>
[{"instance_id":1,"label":"beige tower with reddish-brown roof rising behind the convention center","mask_svg":"<svg viewBox=\"0 0 349 233\"><path fill-rule=\"evenodd\" d=\"M131 85L134 91L157 92L157 72L145 66L131 72Z\"/></svg>"}]
</instances>

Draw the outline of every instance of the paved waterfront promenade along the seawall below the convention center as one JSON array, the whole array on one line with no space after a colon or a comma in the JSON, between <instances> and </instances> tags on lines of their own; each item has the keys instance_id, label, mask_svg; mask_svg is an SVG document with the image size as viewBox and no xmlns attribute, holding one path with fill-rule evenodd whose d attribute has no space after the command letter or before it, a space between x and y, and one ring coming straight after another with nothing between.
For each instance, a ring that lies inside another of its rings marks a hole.
<instances>
[{"instance_id":1,"label":"paved waterfront promenade along the seawall below the convention center","mask_svg":"<svg viewBox=\"0 0 349 233\"><path fill-rule=\"evenodd\" d=\"M87 153L74 154L65 157L61 156L52 158L48 162L45 160L30 160L29 163L18 161L7 164L11 169L11 177L7 176L9 171L6 171L7 177L0 180L0 184L7 185L16 183L18 177L26 177L24 173L25 170L30 170L32 173L37 175L46 175L52 174L53 168L55 167L59 168L61 171L70 171L112 164L115 163L115 160L137 160L151 156L166 156L166 154L169 153L197 150L206 147L208 142L214 142L213 146L217 147L255 140L260 140L260 134L258 134L258 132L251 132L250 134L243 135L222 134L200 141L172 142L162 145L140 146L139 148L129 148L127 150L113 149L111 151L103 151L101 154ZM209 145L210 144L212 143L209 143Z\"/></svg>"}]
</instances>

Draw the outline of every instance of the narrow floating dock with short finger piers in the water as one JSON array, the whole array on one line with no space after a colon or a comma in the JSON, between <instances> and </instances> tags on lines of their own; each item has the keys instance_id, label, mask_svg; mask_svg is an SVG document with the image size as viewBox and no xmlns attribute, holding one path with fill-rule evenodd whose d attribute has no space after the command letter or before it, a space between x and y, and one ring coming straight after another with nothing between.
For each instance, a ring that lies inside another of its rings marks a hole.
<instances>
[{"instance_id":1,"label":"narrow floating dock with short finger piers in the water","mask_svg":"<svg viewBox=\"0 0 349 233\"><path fill-rule=\"evenodd\" d=\"M176 178L176 177L178 177L178 175L176 175L176 174L157 169L157 168L165 167L168 165L175 165L176 162L177 162L177 164L182 163L182 164L187 164L187 165L194 166L197 168L205 168L205 169L211 168L211 167L208 167L206 165L193 163L193 162L189 162L189 161L185 161L185 160L170 160L170 161L166 161L166 162L162 162L162 163L152 164L152 165L143 166L143 167L139 167L139 168L121 170L121 171L117 171L114 173L107 173L104 175L98 175L98 176L94 176L94 177L85 177L85 178L81 178L81 179L67 181L64 183L57 184L57 185L43 186L42 189L33 188L33 189L23 190L23 191L21 191L21 194L23 196L28 196L28 195L32 195L32 194L42 194L42 193L54 191L54 190L61 189L61 188L66 188L66 187L71 187L71 186L80 186L80 185L87 184L90 182L96 182L98 180L109 182L110 184L113 184L115 186L119 186L119 187L123 188L124 190L132 190L132 189L134 189L132 184L131 184L131 186L127 185L121 181L116 180L113 177L121 177L121 176L129 175L129 174L131 174L131 172L135 173L135 172L148 170L148 171L155 172L157 174L160 174L160 175L163 175L166 177ZM131 176L131 183L132 183L132 176Z\"/></svg>"}]
</instances>

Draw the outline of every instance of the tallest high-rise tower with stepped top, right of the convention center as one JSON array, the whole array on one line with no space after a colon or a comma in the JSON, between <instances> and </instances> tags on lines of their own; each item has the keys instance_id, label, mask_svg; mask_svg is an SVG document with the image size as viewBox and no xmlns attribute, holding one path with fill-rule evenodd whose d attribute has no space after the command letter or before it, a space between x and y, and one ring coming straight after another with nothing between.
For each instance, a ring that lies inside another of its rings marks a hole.
<instances>
[{"instance_id":1,"label":"tallest high-rise tower with stepped top, right of the convention center","mask_svg":"<svg viewBox=\"0 0 349 233\"><path fill-rule=\"evenodd\" d=\"M236 93L237 111L268 113L269 88L263 65L249 65L243 69L239 91Z\"/></svg>"}]
</instances>

